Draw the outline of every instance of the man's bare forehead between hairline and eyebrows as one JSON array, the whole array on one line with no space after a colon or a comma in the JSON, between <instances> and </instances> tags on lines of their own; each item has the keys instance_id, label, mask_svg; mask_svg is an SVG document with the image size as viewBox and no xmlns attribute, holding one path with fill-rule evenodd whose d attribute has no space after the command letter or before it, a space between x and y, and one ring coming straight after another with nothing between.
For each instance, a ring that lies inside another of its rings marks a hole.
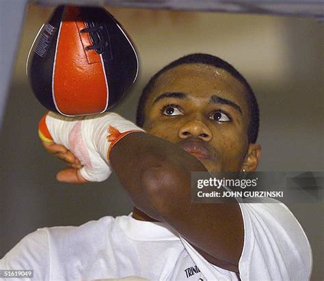
<instances>
[{"instance_id":1,"label":"man's bare forehead between hairline and eyebrows","mask_svg":"<svg viewBox=\"0 0 324 281\"><path fill-rule=\"evenodd\" d=\"M200 100L217 95L238 103L247 110L246 89L229 72L207 64L181 64L163 72L154 83L148 104L165 92L183 92Z\"/></svg>"}]
</instances>

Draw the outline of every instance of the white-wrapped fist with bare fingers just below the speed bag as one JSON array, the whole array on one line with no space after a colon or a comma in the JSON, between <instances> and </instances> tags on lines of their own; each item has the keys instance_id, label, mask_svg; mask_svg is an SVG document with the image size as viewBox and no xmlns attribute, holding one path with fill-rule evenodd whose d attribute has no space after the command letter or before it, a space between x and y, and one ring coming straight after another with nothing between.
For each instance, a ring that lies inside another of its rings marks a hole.
<instances>
[{"instance_id":1,"label":"white-wrapped fist with bare fingers just below the speed bag","mask_svg":"<svg viewBox=\"0 0 324 281\"><path fill-rule=\"evenodd\" d=\"M95 123L95 116L69 118L53 112L46 113L40 120L38 133L44 148L70 166L57 174L58 180L68 183L103 181L111 174L105 155L100 155L96 149Z\"/></svg>"}]
</instances>

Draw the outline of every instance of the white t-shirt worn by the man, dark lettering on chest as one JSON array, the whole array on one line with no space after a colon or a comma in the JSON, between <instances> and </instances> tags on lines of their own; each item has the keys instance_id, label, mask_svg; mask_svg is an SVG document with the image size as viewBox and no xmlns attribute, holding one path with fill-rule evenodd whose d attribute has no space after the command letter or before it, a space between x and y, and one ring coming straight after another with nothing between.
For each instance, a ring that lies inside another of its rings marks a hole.
<instances>
[{"instance_id":1,"label":"white t-shirt worn by the man, dark lettering on chest","mask_svg":"<svg viewBox=\"0 0 324 281\"><path fill-rule=\"evenodd\" d=\"M241 280L309 280L310 245L288 208L269 199L240 206L245 229L239 261ZM142 222L131 215L103 217L79 227L40 228L0 260L0 269L33 269L33 280L128 276L237 280L234 272L208 263L167 225Z\"/></svg>"}]
</instances>

